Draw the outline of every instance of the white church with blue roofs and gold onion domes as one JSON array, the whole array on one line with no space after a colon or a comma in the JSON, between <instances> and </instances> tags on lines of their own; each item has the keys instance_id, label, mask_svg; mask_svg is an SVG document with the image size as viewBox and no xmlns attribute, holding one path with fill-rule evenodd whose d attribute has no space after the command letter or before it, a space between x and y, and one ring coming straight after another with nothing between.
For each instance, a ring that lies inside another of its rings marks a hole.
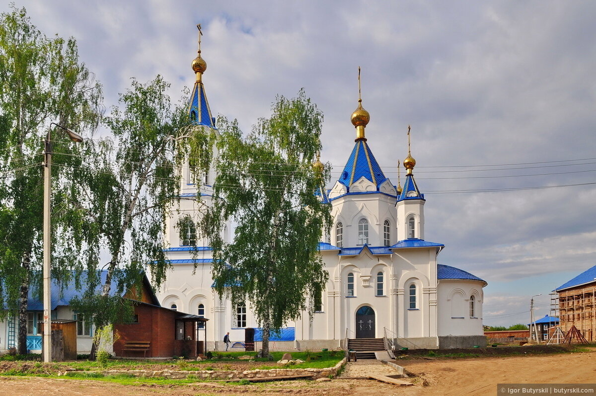
<instances>
[{"instance_id":1,"label":"white church with blue roofs and gold onion domes","mask_svg":"<svg viewBox=\"0 0 596 396\"><path fill-rule=\"evenodd\" d=\"M188 114L194 125L215 129L203 85L206 69L199 49L193 61L196 81ZM302 313L300 320L287 323L281 335L272 336L271 348L332 349L343 347L346 338L384 336L395 340L396 347L409 349L484 346L486 281L438 264L445 245L424 239L426 200L414 179L416 162L408 149L403 188L399 182L393 185L368 145L365 128L370 115L361 102L352 113L356 129L352 153L346 155L333 188L321 193L334 219L330 240L319 243L329 273L327 285L315 301L313 320ZM374 135L371 138L374 142ZM203 175L201 185L193 184L188 170L183 179L180 208L167 220L167 257L173 269L157 296L163 307L208 318L198 330L206 334L198 339L206 339L208 349L221 351L225 333L230 333L232 342L243 342L244 330L258 324L250 305L232 306L215 293L212 250L206 240L197 239L193 222L184 221L196 220L201 206L210 205L215 174ZM221 232L224 241L230 242L233 224ZM256 335L259 341L259 329Z\"/></svg>"}]
</instances>

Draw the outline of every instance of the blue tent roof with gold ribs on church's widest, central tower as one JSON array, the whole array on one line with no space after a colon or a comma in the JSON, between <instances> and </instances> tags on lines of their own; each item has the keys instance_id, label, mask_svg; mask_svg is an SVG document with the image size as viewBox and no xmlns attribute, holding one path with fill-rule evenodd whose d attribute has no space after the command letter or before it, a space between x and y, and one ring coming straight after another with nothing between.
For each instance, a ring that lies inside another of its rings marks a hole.
<instances>
[{"instance_id":1,"label":"blue tent roof with gold ribs on church's widest, central tower","mask_svg":"<svg viewBox=\"0 0 596 396\"><path fill-rule=\"evenodd\" d=\"M347 159L339 182L350 187L350 185L364 177L377 186L377 190L387 180L381 167L378 165L373 152L364 139L356 141L352 154Z\"/></svg>"}]
</instances>

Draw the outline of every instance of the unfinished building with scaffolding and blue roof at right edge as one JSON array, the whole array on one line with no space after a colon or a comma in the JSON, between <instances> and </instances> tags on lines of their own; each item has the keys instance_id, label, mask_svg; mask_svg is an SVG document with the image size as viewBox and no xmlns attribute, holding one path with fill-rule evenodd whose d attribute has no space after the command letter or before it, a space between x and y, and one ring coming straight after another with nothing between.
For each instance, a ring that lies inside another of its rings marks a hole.
<instances>
[{"instance_id":1,"label":"unfinished building with scaffolding and blue roof at right edge","mask_svg":"<svg viewBox=\"0 0 596 396\"><path fill-rule=\"evenodd\" d=\"M558 286L560 327L564 334L575 326L586 341L596 341L596 265Z\"/></svg>"}]
</instances>

